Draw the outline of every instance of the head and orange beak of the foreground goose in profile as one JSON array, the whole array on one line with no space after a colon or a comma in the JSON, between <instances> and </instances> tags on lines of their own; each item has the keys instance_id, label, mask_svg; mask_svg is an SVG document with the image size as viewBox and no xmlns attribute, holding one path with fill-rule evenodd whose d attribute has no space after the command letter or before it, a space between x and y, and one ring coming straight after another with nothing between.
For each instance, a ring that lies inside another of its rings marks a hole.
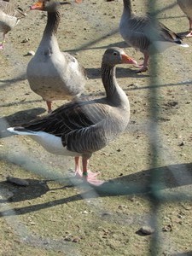
<instances>
[{"instance_id":1,"label":"head and orange beak of the foreground goose in profile","mask_svg":"<svg viewBox=\"0 0 192 256\"><path fill-rule=\"evenodd\" d=\"M126 55L123 49L119 49L117 47L111 47L105 51L105 54L102 57L102 63L113 67L118 64L137 65L137 61Z\"/></svg>"}]
</instances>

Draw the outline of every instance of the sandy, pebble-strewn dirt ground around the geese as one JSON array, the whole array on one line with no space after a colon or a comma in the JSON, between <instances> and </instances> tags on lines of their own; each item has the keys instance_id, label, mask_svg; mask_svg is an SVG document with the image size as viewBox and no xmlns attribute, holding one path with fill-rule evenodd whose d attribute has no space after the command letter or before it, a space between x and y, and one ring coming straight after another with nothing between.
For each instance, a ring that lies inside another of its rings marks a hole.
<instances>
[{"instance_id":1,"label":"sandy, pebble-strewn dirt ground around the geese","mask_svg":"<svg viewBox=\"0 0 192 256\"><path fill-rule=\"evenodd\" d=\"M45 102L26 80L32 57L27 52L37 49L46 14L28 12L30 1L11 2L27 10L27 16L9 32L0 52L0 254L192 255L192 38L184 39L189 48L176 46L156 55L146 73L117 67L118 82L130 99L131 122L90 160L90 168L110 181L97 189L69 186L65 177L73 170L72 158L49 154L30 138L6 132L9 125L46 114ZM186 32L189 21L175 1L158 2L160 21ZM132 5L137 14L147 11L147 0ZM122 0L84 0L61 9L58 42L85 67L85 95L103 95L100 66L109 46L125 48L139 62L143 57L119 35L122 8ZM8 183L9 176L28 185ZM158 200L148 193L152 180L158 181ZM152 234L139 232L143 226L154 228L147 230Z\"/></svg>"}]
</instances>

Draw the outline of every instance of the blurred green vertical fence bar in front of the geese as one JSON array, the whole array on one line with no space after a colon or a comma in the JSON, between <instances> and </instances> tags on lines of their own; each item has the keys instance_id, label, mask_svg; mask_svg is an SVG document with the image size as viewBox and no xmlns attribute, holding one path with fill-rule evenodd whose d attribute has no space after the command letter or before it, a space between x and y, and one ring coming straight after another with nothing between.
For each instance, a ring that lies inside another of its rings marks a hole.
<instances>
[{"instance_id":1,"label":"blurred green vertical fence bar in front of the geese","mask_svg":"<svg viewBox=\"0 0 192 256\"><path fill-rule=\"evenodd\" d=\"M148 0L148 11L149 14L155 14L156 10L156 0ZM151 17L153 19L153 25L157 22L156 15ZM150 29L150 28L149 28ZM156 35L154 34L155 31L150 30L153 32L149 35L149 37L154 41ZM149 32L150 32L149 31ZM157 66L157 55L150 55L150 81L149 81L149 90L148 90L148 103L149 103L149 116L150 116L150 127L149 127L149 150L150 150L150 162L151 162L151 173L149 178L149 187L150 187L150 202L152 207L151 212L151 224L155 230L153 236L151 237L150 241L150 253L151 255L157 255L160 249L160 233L159 233L159 225L158 225L158 212L160 208L160 201L158 197L158 157L159 157L159 132L158 132L158 116L159 116L159 109L158 109L158 76L154 75L158 72Z\"/></svg>"}]
</instances>

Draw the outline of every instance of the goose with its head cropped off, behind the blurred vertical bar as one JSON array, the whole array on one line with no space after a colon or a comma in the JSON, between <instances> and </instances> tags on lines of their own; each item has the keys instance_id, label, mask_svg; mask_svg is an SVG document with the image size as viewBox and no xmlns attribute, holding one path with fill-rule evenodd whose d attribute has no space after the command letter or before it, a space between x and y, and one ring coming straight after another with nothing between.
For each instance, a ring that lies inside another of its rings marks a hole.
<instances>
[{"instance_id":1,"label":"goose with its head cropped off, behind the blurred vertical bar","mask_svg":"<svg viewBox=\"0 0 192 256\"><path fill-rule=\"evenodd\" d=\"M124 0L124 9L119 23L119 32L125 42L135 49L139 49L144 55L143 64L138 72L148 70L148 57L156 52L164 51L172 45L183 44L175 32L154 20L148 15L137 16L132 12L131 0Z\"/></svg>"}]
</instances>

